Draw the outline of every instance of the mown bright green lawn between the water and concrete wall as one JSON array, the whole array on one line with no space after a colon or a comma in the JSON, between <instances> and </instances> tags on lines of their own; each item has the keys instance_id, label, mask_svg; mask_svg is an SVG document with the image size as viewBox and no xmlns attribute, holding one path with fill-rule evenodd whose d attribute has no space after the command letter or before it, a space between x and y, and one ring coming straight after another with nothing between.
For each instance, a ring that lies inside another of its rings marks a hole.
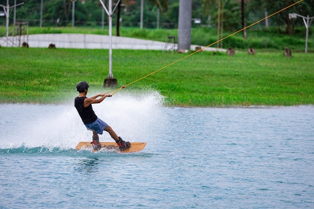
<instances>
[{"instance_id":1,"label":"mown bright green lawn between the water and concrete wall","mask_svg":"<svg viewBox=\"0 0 314 209\"><path fill-rule=\"evenodd\" d=\"M185 56L113 50L113 74L123 86ZM313 58L293 53L287 59L282 51L234 57L202 52L121 91L153 89L182 106L314 104ZM105 92L107 75L108 50L0 48L1 103L69 101L82 80Z\"/></svg>"}]
</instances>

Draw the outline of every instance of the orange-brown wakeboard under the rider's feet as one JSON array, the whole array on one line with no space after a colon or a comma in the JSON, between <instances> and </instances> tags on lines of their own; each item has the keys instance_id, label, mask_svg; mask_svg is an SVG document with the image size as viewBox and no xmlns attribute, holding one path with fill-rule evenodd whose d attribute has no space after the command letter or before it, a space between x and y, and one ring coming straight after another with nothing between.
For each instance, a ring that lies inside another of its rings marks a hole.
<instances>
[{"instance_id":1,"label":"orange-brown wakeboard under the rider's feet","mask_svg":"<svg viewBox=\"0 0 314 209\"><path fill-rule=\"evenodd\" d=\"M120 151L118 145L115 142L100 142L101 144L101 148L99 150L94 150L93 152L97 152L97 151L101 151L101 150L115 150L117 152L138 152L140 150L142 150L145 145L146 142L130 142L131 143L131 147ZM75 147L75 149L77 150L81 150L81 149L92 149L93 144L90 143L90 141L80 141L78 143L78 145Z\"/></svg>"}]
</instances>

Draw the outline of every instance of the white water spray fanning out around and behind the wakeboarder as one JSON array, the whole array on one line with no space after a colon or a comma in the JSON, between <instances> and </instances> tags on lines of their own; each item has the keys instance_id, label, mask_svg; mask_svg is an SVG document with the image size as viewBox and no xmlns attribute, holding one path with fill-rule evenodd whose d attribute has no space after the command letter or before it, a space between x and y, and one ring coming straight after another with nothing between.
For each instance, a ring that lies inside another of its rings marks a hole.
<instances>
[{"instance_id":1,"label":"white water spray fanning out around and behind the wakeboarder","mask_svg":"<svg viewBox=\"0 0 314 209\"><path fill-rule=\"evenodd\" d=\"M155 91L122 92L93 104L93 109L122 139L149 142L154 138L156 126L160 128L166 119L163 103L163 96ZM74 98L62 105L4 104L0 105L0 111L3 118L0 148L24 145L69 149L75 148L79 141L92 139L91 131L85 128L74 107ZM114 141L105 131L99 139Z\"/></svg>"}]
</instances>

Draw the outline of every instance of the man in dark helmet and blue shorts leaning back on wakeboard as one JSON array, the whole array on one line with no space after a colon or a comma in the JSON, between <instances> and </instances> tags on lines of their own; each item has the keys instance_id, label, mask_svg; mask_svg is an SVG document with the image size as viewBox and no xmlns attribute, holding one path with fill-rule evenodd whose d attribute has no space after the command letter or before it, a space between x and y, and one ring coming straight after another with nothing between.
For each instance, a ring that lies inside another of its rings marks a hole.
<instances>
[{"instance_id":1,"label":"man in dark helmet and blue shorts leaning back on wakeboard","mask_svg":"<svg viewBox=\"0 0 314 209\"><path fill-rule=\"evenodd\" d=\"M75 98L74 106L77 109L86 128L93 131L93 148L96 150L101 148L98 134L102 134L103 131L107 131L119 146L120 151L128 149L131 146L130 142L123 141L120 137L118 137L107 123L96 116L92 108L92 104L100 103L106 97L111 97L112 95L97 94L93 97L87 98L86 95L88 88L89 85L86 81L81 81L76 85L79 96ZM100 98L97 99L98 97Z\"/></svg>"}]
</instances>

